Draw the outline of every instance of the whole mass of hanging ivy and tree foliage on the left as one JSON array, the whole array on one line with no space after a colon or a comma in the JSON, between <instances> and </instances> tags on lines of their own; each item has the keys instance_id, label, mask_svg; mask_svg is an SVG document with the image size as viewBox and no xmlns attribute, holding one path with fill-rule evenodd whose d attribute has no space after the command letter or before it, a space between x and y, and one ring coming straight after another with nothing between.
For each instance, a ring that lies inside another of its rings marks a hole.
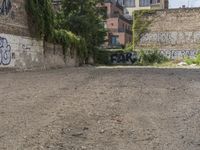
<instances>
[{"instance_id":1,"label":"whole mass of hanging ivy and tree foliage on the left","mask_svg":"<svg viewBox=\"0 0 200 150\"><path fill-rule=\"evenodd\" d=\"M96 7L101 0L63 0L62 9L54 11L51 0L26 0L32 35L44 41L78 50L87 59L104 42L106 31L103 12Z\"/></svg>"}]
</instances>

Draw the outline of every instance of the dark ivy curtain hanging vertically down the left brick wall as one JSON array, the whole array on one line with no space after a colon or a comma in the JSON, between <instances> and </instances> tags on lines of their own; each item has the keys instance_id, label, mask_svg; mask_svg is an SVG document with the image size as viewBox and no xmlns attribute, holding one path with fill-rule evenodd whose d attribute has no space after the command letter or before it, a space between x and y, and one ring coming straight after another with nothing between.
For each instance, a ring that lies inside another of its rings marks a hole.
<instances>
[{"instance_id":1,"label":"dark ivy curtain hanging vertically down the left brick wall","mask_svg":"<svg viewBox=\"0 0 200 150\"><path fill-rule=\"evenodd\" d=\"M29 29L32 36L45 41L52 40L54 12L50 0L26 0Z\"/></svg>"}]
</instances>

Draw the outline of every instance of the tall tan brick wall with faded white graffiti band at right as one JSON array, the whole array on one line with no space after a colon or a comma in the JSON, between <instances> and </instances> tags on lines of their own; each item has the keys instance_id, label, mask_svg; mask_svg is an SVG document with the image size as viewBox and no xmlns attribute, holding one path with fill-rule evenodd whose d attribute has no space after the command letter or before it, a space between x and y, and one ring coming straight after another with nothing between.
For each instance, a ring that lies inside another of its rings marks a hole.
<instances>
[{"instance_id":1,"label":"tall tan brick wall with faded white graffiti band at right","mask_svg":"<svg viewBox=\"0 0 200 150\"><path fill-rule=\"evenodd\" d=\"M200 48L200 9L157 10L143 16L152 20L138 48L194 50Z\"/></svg>"}]
</instances>

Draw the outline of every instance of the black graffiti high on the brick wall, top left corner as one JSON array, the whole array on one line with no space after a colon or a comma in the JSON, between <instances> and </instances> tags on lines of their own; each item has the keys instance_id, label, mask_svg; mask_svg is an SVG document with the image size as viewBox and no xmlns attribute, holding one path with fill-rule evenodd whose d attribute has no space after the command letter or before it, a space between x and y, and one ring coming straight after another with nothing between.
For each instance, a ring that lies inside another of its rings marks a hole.
<instances>
[{"instance_id":1,"label":"black graffiti high on the brick wall, top left corner","mask_svg":"<svg viewBox=\"0 0 200 150\"><path fill-rule=\"evenodd\" d=\"M11 8L11 0L0 0L0 15L7 15Z\"/></svg>"}]
</instances>

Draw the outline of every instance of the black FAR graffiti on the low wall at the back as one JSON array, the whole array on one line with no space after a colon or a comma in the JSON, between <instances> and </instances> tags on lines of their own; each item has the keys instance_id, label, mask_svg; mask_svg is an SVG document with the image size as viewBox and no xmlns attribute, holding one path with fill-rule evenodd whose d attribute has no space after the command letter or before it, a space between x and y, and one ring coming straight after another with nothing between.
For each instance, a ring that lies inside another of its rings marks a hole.
<instances>
[{"instance_id":1,"label":"black FAR graffiti on the low wall at the back","mask_svg":"<svg viewBox=\"0 0 200 150\"><path fill-rule=\"evenodd\" d=\"M137 61L136 52L116 53L111 55L112 64L134 64Z\"/></svg>"}]
</instances>

